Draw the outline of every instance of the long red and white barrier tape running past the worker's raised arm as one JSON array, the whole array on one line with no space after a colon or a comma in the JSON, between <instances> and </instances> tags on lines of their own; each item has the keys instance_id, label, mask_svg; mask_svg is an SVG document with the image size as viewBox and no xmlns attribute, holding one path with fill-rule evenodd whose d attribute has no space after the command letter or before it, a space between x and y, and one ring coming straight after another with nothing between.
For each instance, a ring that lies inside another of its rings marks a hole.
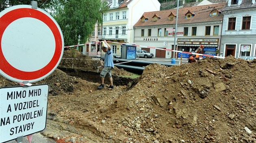
<instances>
[{"instance_id":1,"label":"long red and white barrier tape running past the worker's raised arm","mask_svg":"<svg viewBox=\"0 0 256 143\"><path fill-rule=\"evenodd\" d=\"M140 46L140 47L143 47L143 48L154 48L154 49L158 49L158 50L167 50L167 51L178 52L178 53L186 53L186 54L193 54L193 55L200 55L200 56L207 56L207 57L215 57L215 58L221 58L221 59L225 58L225 57L220 57L220 56L213 56L213 55L206 55L206 54L199 54L199 53L184 52L184 51L180 51L180 50L163 49L163 48L156 48L156 47L150 47L150 46L141 46L141 45L133 45L133 44L128 44L128 43L119 43L119 42L112 42L112 41L107 41L107 42L116 43L116 44L132 45L132 46ZM65 46L64 48L75 47L75 46L82 46L82 45L94 44L94 43L100 43L100 42L78 44L78 45L73 45L73 46Z\"/></svg>"}]
</instances>

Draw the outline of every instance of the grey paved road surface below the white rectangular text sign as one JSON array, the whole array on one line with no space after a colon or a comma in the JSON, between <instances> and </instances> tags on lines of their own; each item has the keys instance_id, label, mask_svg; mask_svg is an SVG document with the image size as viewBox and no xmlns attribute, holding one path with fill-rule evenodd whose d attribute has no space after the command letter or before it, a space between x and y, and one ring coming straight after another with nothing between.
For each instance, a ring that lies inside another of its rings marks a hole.
<instances>
[{"instance_id":1,"label":"grey paved road surface below the white rectangular text sign","mask_svg":"<svg viewBox=\"0 0 256 143\"><path fill-rule=\"evenodd\" d=\"M15 141L15 139L14 139L14 140L8 141L6 143L17 143L17 141ZM29 143L27 137L23 137L22 143ZM56 143L56 141L54 141L54 139L45 137L42 134L40 134L39 132L37 132L37 133L33 134L31 143Z\"/></svg>"}]
</instances>

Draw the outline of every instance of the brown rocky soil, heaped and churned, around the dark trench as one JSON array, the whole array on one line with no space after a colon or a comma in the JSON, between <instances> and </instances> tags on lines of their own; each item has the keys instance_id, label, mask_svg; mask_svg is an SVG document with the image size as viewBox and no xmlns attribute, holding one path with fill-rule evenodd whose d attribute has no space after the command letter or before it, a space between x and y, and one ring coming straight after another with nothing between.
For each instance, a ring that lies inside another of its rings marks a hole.
<instances>
[{"instance_id":1,"label":"brown rocky soil, heaped and churned, around the dark trench","mask_svg":"<svg viewBox=\"0 0 256 143\"><path fill-rule=\"evenodd\" d=\"M73 50L59 65L98 72L95 66L99 60ZM113 75L133 76L116 67ZM34 84L50 86L41 133L57 143L256 143L255 79L256 60L228 56L151 64L114 90L60 69ZM1 77L0 85L17 83Z\"/></svg>"}]
</instances>

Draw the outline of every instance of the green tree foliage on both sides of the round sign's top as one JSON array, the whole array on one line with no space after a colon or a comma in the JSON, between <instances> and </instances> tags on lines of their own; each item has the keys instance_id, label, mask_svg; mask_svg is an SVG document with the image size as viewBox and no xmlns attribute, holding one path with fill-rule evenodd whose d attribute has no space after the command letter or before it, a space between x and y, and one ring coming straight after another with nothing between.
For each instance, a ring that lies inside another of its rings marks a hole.
<instances>
[{"instance_id":1,"label":"green tree foliage on both sides of the round sign's top","mask_svg":"<svg viewBox=\"0 0 256 143\"><path fill-rule=\"evenodd\" d=\"M108 10L105 0L35 0L37 6L50 13L57 21L65 45L87 42L95 24L102 25L102 14ZM31 0L0 0L0 11L14 5L29 5Z\"/></svg>"}]
</instances>

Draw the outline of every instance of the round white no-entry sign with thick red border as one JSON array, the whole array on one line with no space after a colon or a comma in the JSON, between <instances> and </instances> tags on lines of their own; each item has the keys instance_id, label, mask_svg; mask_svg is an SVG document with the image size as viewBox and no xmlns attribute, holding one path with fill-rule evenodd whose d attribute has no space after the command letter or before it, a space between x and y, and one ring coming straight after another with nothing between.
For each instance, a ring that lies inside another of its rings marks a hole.
<instances>
[{"instance_id":1,"label":"round white no-entry sign with thick red border","mask_svg":"<svg viewBox=\"0 0 256 143\"><path fill-rule=\"evenodd\" d=\"M18 5L0 13L0 74L15 82L37 82L59 65L61 28L40 8Z\"/></svg>"}]
</instances>

